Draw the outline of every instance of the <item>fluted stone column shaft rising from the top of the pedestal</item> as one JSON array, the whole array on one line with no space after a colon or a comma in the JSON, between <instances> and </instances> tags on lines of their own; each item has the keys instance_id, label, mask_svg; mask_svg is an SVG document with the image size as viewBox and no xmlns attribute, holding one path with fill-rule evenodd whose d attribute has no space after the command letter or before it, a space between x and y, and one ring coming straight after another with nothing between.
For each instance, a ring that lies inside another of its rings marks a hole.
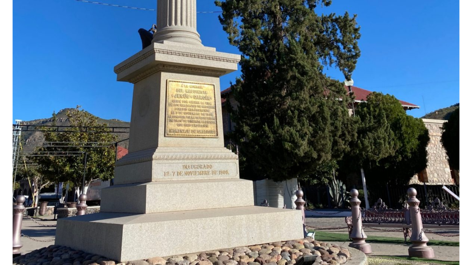
<instances>
[{"instance_id":1,"label":"fluted stone column shaft rising from the top of the pedestal","mask_svg":"<svg viewBox=\"0 0 472 265\"><path fill-rule=\"evenodd\" d=\"M152 42L202 45L197 32L197 0L157 0L157 32Z\"/></svg>"}]
</instances>

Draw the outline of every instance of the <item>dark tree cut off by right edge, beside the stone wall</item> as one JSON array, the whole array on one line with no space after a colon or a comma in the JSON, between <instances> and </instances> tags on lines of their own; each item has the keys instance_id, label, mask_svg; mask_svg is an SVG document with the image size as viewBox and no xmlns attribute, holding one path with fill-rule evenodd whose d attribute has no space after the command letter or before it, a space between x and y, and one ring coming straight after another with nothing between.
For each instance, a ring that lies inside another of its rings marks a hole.
<instances>
[{"instance_id":1,"label":"dark tree cut off by right edge, beside the stone wall","mask_svg":"<svg viewBox=\"0 0 472 265\"><path fill-rule=\"evenodd\" d=\"M459 170L459 108L451 113L451 116L443 124L444 130L441 136L441 143L446 149L449 165Z\"/></svg>"}]
</instances>

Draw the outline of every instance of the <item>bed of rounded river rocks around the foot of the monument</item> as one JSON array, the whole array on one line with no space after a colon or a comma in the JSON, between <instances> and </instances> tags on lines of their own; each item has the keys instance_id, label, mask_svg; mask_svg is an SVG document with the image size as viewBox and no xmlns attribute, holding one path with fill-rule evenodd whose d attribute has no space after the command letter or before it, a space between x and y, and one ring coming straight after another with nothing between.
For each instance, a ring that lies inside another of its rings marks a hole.
<instances>
[{"instance_id":1,"label":"bed of rounded river rocks around the foot of the monument","mask_svg":"<svg viewBox=\"0 0 472 265\"><path fill-rule=\"evenodd\" d=\"M13 265L293 265L305 255L319 256L313 265L367 265L367 258L357 249L311 238L122 263L51 245L15 257Z\"/></svg>"}]
</instances>

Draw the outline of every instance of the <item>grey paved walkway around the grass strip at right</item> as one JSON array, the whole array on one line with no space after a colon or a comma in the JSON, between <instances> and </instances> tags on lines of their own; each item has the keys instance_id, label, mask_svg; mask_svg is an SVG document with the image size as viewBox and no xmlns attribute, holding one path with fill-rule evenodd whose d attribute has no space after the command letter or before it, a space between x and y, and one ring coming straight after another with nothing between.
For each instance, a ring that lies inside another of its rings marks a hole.
<instances>
[{"instance_id":1,"label":"grey paved walkway around the grass strip at right","mask_svg":"<svg viewBox=\"0 0 472 265\"><path fill-rule=\"evenodd\" d=\"M346 222L344 221L344 217L306 217L306 225L308 226L316 226L316 227L343 227L346 226ZM382 229L389 229L388 227L382 227ZM395 228L390 228L395 229ZM445 229L431 229L435 232L440 232L443 234L457 234L459 233L459 229L457 230L445 230ZM318 230L324 232L332 232L332 233L344 233L347 234L347 228L342 230ZM369 235L371 236L384 236L384 237L396 237L403 239L403 232L383 232L383 231L375 231L369 228L366 228L365 233L367 234L367 238ZM430 240L438 240L438 241L454 241L459 242L459 236L457 237L445 237L440 236L432 233L426 233L426 236ZM316 239L316 236L315 236ZM407 239L408 240L408 239ZM325 240L326 241L326 240ZM346 246L350 243L350 241L331 241L340 246ZM367 239L369 242L369 239ZM408 256L408 248L409 244L385 244L385 243L371 243L372 247L372 254L369 256ZM437 260L443 261L459 261L459 247L450 247L450 246L438 246L432 245L431 248L434 250L435 258Z\"/></svg>"}]
</instances>

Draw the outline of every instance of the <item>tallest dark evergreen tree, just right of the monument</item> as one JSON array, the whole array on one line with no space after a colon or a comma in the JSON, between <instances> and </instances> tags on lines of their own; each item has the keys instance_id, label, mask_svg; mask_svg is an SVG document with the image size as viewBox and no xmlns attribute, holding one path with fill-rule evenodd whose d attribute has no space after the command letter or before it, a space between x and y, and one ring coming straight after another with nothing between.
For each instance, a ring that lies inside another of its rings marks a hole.
<instances>
[{"instance_id":1,"label":"tallest dark evergreen tree, just right of the monument","mask_svg":"<svg viewBox=\"0 0 472 265\"><path fill-rule=\"evenodd\" d=\"M346 90L323 68L335 66L350 79L360 56L356 16L318 15L315 8L329 0L215 4L229 42L242 53L242 75L231 87L238 106L228 107L241 175L320 177L318 170L340 159L355 136Z\"/></svg>"}]
</instances>

